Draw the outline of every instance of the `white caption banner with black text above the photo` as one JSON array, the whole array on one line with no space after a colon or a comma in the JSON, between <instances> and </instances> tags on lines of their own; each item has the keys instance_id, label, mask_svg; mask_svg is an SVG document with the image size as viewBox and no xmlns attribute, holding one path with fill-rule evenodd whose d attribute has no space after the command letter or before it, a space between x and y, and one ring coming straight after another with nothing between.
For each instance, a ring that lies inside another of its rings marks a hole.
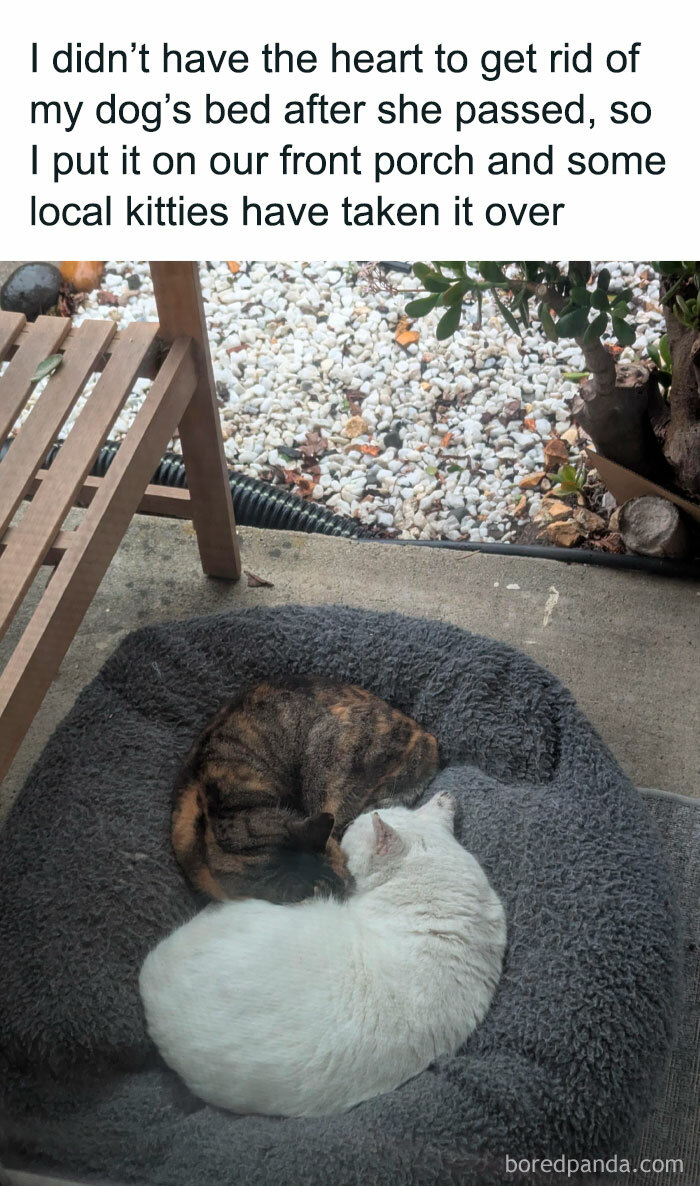
<instances>
[{"instance_id":1,"label":"white caption banner with black text above the photo","mask_svg":"<svg viewBox=\"0 0 700 1186\"><path fill-rule=\"evenodd\" d=\"M696 254L694 8L15 6L0 254Z\"/></svg>"}]
</instances>

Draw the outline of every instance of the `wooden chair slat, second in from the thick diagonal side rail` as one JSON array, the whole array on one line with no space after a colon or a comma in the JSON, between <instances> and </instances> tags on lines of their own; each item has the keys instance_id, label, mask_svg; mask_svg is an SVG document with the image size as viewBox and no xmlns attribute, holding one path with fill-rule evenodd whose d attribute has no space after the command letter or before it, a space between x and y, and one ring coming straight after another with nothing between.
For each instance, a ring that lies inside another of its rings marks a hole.
<instances>
[{"instance_id":1,"label":"wooden chair slat, second in from the thick diagonal side rail","mask_svg":"<svg viewBox=\"0 0 700 1186\"><path fill-rule=\"evenodd\" d=\"M109 321L83 321L64 352L63 364L30 412L0 470L0 536L94 372L95 359L113 334L114 325Z\"/></svg>"}]
</instances>

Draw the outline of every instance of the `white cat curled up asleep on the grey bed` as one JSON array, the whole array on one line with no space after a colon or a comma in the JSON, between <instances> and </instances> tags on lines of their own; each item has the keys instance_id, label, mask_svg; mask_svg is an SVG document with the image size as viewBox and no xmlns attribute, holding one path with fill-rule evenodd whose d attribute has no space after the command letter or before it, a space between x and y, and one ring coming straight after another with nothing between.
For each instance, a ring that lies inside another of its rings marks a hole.
<instances>
[{"instance_id":1,"label":"white cat curled up asleep on the grey bed","mask_svg":"<svg viewBox=\"0 0 700 1186\"><path fill-rule=\"evenodd\" d=\"M505 918L453 820L446 793L359 816L342 844L345 901L212 905L148 955L148 1031L191 1091L324 1116L459 1050L498 982Z\"/></svg>"}]
</instances>

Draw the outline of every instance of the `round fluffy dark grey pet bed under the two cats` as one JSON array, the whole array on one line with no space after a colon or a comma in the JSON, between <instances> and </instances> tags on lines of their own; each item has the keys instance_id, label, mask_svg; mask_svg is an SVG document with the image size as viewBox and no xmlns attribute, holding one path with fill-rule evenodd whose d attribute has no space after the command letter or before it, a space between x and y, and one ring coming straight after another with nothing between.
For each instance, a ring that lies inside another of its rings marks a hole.
<instances>
[{"instance_id":1,"label":"round fluffy dark grey pet bed under the two cats","mask_svg":"<svg viewBox=\"0 0 700 1186\"><path fill-rule=\"evenodd\" d=\"M197 906L168 846L178 757L242 684L289 671L363 683L435 732L433 786L457 795L509 925L464 1051L323 1121L201 1105L155 1057L136 986ZM505 1154L623 1153L661 1079L677 937L644 805L553 676L445 624L292 606L131 635L46 746L0 869L11 1163L157 1186L502 1184Z\"/></svg>"}]
</instances>

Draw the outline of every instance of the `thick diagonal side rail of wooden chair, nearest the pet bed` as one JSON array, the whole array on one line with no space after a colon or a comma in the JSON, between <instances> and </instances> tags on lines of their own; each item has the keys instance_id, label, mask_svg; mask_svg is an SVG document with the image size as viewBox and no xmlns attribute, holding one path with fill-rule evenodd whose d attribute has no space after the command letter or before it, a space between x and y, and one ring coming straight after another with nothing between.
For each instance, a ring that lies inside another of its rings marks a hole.
<instances>
[{"instance_id":1,"label":"thick diagonal side rail of wooden chair, nearest the pet bed","mask_svg":"<svg viewBox=\"0 0 700 1186\"><path fill-rule=\"evenodd\" d=\"M58 671L172 435L173 423L179 421L196 385L192 344L187 338L178 339L0 677L0 779L27 720Z\"/></svg>"}]
</instances>

